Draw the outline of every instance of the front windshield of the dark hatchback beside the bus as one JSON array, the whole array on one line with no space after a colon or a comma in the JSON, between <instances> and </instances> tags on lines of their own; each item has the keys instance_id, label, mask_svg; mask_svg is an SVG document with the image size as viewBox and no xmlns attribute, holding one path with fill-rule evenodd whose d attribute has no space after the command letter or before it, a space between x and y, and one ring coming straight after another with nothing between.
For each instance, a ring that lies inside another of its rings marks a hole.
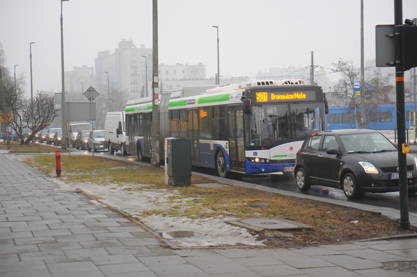
<instances>
[{"instance_id":1,"label":"front windshield of the dark hatchback beside the bus","mask_svg":"<svg viewBox=\"0 0 417 277\"><path fill-rule=\"evenodd\" d=\"M394 144L380 133L341 135L347 153L397 151Z\"/></svg>"}]
</instances>

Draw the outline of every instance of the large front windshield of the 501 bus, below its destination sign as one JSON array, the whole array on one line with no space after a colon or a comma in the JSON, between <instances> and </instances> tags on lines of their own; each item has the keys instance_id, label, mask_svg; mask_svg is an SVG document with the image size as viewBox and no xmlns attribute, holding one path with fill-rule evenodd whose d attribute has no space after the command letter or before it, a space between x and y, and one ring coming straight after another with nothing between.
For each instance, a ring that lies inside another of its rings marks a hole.
<instances>
[{"instance_id":1,"label":"large front windshield of the 501 bus, below its destination sign","mask_svg":"<svg viewBox=\"0 0 417 277\"><path fill-rule=\"evenodd\" d=\"M303 139L322 131L320 105L254 104L250 116L250 138L246 146L268 146L289 139ZM280 143L279 143L280 144Z\"/></svg>"}]
</instances>

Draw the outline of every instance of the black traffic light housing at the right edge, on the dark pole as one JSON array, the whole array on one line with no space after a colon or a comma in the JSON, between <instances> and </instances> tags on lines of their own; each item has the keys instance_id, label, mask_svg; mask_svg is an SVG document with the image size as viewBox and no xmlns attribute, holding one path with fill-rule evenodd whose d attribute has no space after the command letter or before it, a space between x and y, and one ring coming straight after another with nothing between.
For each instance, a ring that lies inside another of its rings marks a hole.
<instances>
[{"instance_id":1,"label":"black traffic light housing at the right edge, on the dark pole","mask_svg":"<svg viewBox=\"0 0 417 277\"><path fill-rule=\"evenodd\" d=\"M401 26L401 48L404 71L417 67L417 25L410 26L407 24L407 20L406 25Z\"/></svg>"}]
</instances>

